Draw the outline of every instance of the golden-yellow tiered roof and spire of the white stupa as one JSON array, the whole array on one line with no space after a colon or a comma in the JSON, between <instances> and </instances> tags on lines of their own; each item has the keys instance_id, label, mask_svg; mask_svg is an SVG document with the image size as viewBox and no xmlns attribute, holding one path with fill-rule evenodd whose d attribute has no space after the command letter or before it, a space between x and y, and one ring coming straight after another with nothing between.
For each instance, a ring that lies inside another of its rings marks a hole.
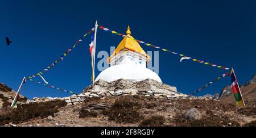
<instances>
[{"instance_id":1,"label":"golden-yellow tiered roof and spire of the white stupa","mask_svg":"<svg viewBox=\"0 0 256 138\"><path fill-rule=\"evenodd\" d=\"M113 58L115 56L115 54L117 54L119 51L122 51L123 49L129 49L131 51L137 52L137 53L139 53L143 56L146 56L147 61L150 61L150 56L148 56L146 54L146 52L144 52L141 45L139 45L139 43L136 40L134 40L134 37L131 36L131 31L130 31L129 26L128 26L127 31L126 31L126 36L129 36L129 37L124 37L123 38L123 40L118 44L114 53L109 57L108 61L110 61L111 58Z\"/></svg>"}]
</instances>

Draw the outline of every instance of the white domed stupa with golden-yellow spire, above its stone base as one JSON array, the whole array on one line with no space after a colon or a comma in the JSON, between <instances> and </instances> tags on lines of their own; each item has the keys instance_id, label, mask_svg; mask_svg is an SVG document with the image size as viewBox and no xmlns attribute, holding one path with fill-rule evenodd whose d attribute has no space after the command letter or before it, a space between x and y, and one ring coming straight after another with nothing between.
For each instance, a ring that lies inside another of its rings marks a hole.
<instances>
[{"instance_id":1,"label":"white domed stupa with golden-yellow spire, above its stone base","mask_svg":"<svg viewBox=\"0 0 256 138\"><path fill-rule=\"evenodd\" d=\"M102 71L95 81L104 80L112 82L119 79L130 81L142 81L150 78L162 82L158 74L147 69L147 62L150 56L141 48L141 45L131 36L128 26L126 35L114 53L109 57L110 68Z\"/></svg>"}]
</instances>

